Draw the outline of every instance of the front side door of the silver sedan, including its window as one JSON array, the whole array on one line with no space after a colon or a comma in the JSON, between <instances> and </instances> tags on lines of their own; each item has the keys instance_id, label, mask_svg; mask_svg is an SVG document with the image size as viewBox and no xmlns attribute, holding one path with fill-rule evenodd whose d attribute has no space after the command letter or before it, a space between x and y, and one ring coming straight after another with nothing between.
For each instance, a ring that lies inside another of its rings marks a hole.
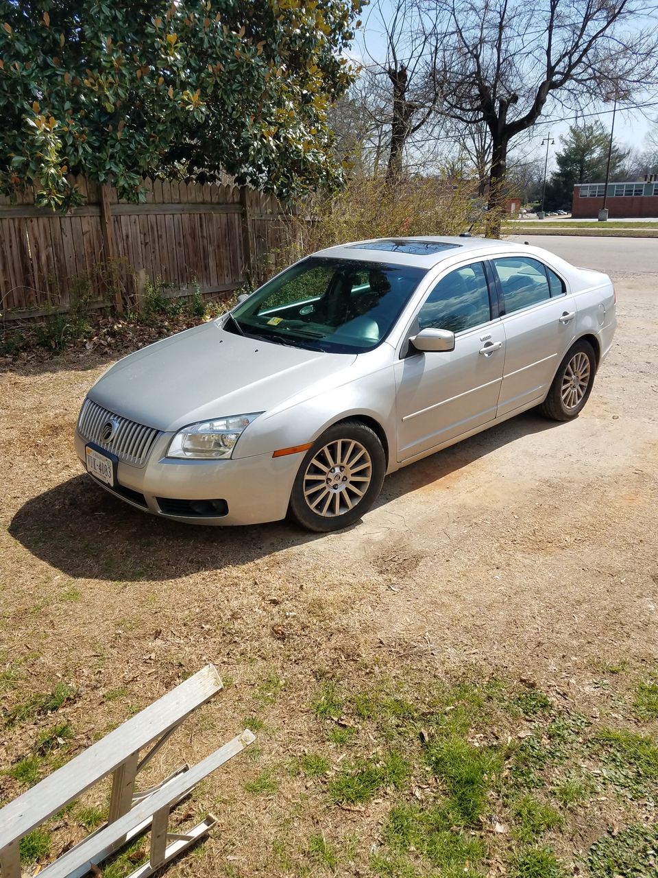
<instances>
[{"instance_id":1,"label":"front side door of the silver sedan, including its window","mask_svg":"<svg viewBox=\"0 0 658 878\"><path fill-rule=\"evenodd\" d=\"M418 353L396 363L397 460L450 443L496 417L505 354L493 319L483 263L443 277L418 311L410 335L433 327L454 332L454 350Z\"/></svg>"}]
</instances>

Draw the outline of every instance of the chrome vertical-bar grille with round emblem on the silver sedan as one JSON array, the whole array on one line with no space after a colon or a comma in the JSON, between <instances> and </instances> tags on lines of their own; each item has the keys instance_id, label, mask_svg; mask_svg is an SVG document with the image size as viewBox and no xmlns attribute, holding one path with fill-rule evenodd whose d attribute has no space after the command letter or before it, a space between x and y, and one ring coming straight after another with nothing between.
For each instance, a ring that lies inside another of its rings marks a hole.
<instances>
[{"instance_id":1,"label":"chrome vertical-bar grille with round emblem on the silver sedan","mask_svg":"<svg viewBox=\"0 0 658 878\"><path fill-rule=\"evenodd\" d=\"M106 440L106 427L112 426L112 435ZM102 406L97 406L91 399L85 399L78 418L78 432L87 442L93 442L99 448L111 451L125 464L143 466L147 462L150 450L160 435L153 427L128 421Z\"/></svg>"}]
</instances>

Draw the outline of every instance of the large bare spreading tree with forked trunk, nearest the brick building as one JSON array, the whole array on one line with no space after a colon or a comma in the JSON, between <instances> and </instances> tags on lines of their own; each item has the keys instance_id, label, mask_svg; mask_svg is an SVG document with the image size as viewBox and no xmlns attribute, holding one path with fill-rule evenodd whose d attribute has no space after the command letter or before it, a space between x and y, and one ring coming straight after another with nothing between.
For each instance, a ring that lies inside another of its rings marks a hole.
<instances>
[{"instance_id":1,"label":"large bare spreading tree with forked trunk, nearest the brick building","mask_svg":"<svg viewBox=\"0 0 658 878\"><path fill-rule=\"evenodd\" d=\"M656 8L642 0L430 0L441 112L491 138L489 206L504 198L510 143L547 109L630 103L655 82Z\"/></svg>"}]
</instances>

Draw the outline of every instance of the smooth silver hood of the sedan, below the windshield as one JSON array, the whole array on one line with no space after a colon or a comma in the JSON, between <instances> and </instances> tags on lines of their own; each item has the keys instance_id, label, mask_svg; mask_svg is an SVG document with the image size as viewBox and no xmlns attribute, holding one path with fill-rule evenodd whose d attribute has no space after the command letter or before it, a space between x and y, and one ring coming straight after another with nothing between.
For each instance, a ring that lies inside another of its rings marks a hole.
<instances>
[{"instance_id":1,"label":"smooth silver hood of the sedan, below the windshield","mask_svg":"<svg viewBox=\"0 0 658 878\"><path fill-rule=\"evenodd\" d=\"M354 363L261 342L204 323L126 356L98 379L89 399L131 421L174 431L195 421L271 411Z\"/></svg>"}]
</instances>

